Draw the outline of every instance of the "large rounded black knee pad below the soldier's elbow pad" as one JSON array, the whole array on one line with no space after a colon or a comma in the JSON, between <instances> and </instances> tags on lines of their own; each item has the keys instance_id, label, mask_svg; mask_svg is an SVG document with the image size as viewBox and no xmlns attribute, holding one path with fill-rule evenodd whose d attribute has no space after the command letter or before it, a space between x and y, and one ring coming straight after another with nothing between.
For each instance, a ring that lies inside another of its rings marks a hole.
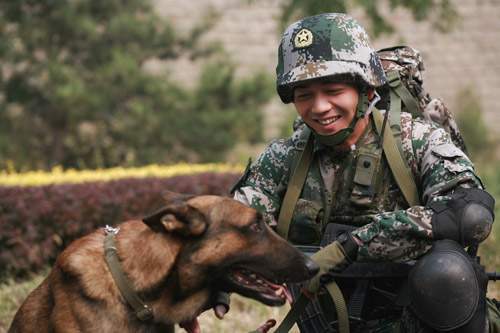
<instances>
[{"instance_id":1,"label":"large rounded black knee pad below the soldier's elbow pad","mask_svg":"<svg viewBox=\"0 0 500 333\"><path fill-rule=\"evenodd\" d=\"M455 241L441 240L408 277L410 308L431 328L443 332L484 332L484 269Z\"/></svg>"}]
</instances>

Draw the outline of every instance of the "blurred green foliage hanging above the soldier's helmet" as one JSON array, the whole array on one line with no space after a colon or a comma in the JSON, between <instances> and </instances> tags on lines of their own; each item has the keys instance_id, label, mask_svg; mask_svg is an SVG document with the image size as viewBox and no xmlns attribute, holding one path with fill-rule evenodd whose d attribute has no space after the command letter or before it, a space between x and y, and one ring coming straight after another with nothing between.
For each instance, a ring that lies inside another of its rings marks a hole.
<instances>
[{"instance_id":1,"label":"blurred green foliage hanging above the soldier's helmet","mask_svg":"<svg viewBox=\"0 0 500 333\"><path fill-rule=\"evenodd\" d=\"M291 20L300 16L316 15L326 12L346 13L352 8L363 10L370 21L374 37L383 33L394 32L393 25L381 14L379 6L382 1L376 0L287 0L284 2L281 23L286 26ZM387 0L389 10L401 7L409 10L416 21L428 20L442 32L453 28L458 13L450 0Z\"/></svg>"}]
</instances>

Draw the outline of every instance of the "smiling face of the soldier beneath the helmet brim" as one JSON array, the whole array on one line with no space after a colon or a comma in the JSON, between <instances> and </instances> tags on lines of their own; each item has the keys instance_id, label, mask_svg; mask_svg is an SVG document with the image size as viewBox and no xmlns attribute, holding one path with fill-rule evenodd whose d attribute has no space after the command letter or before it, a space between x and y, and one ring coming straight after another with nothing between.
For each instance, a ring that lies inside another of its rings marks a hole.
<instances>
[{"instance_id":1,"label":"smiling face of the soldier beneath the helmet brim","mask_svg":"<svg viewBox=\"0 0 500 333\"><path fill-rule=\"evenodd\" d=\"M357 89L346 83L312 81L293 92L298 114L316 133L332 135L354 119L358 105Z\"/></svg>"}]
</instances>

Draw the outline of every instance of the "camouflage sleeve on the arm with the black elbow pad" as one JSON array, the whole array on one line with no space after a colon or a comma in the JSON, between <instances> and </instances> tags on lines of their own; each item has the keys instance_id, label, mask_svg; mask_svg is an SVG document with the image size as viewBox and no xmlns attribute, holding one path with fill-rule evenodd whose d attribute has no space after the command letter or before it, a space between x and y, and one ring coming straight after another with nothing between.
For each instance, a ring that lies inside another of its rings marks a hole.
<instances>
[{"instance_id":1,"label":"camouflage sleeve on the arm with the black elbow pad","mask_svg":"<svg viewBox=\"0 0 500 333\"><path fill-rule=\"evenodd\" d=\"M448 133L421 121L413 121L411 126L411 140L402 138L403 150L412 155L406 157L424 205L448 200L458 186L482 188L472 162ZM432 245L432 215L426 206L374 215L373 222L353 232L360 241L358 258L404 262L420 257Z\"/></svg>"}]
</instances>

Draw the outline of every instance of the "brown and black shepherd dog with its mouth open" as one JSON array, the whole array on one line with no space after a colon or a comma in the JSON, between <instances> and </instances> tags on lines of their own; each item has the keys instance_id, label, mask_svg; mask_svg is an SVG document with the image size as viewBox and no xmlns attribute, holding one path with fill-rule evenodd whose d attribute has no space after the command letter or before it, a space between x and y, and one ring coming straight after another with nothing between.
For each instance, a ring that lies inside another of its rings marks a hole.
<instances>
[{"instance_id":1,"label":"brown and black shepherd dog with its mouth open","mask_svg":"<svg viewBox=\"0 0 500 333\"><path fill-rule=\"evenodd\" d=\"M285 282L318 267L233 199L170 193L144 221L120 225L116 248L133 288L153 311L139 321L104 259L104 231L70 244L25 300L9 332L165 332L209 308L216 291L268 305L285 302Z\"/></svg>"}]
</instances>

